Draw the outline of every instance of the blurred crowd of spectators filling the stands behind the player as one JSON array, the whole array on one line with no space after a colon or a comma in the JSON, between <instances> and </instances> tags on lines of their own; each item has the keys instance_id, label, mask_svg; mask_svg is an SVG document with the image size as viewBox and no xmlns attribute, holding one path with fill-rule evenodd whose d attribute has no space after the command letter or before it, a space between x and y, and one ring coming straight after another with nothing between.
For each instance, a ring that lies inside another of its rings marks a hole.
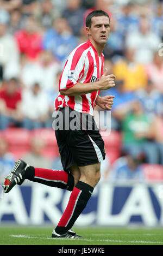
<instances>
[{"instance_id":1,"label":"blurred crowd of spectators filling the stands behind the player","mask_svg":"<svg viewBox=\"0 0 163 256\"><path fill-rule=\"evenodd\" d=\"M85 17L94 9L111 19L104 56L116 87L100 93L115 95L111 130L122 135L111 177L142 179L140 163L163 165L162 1L0 0L0 130L52 128L62 68L74 47L87 41ZM14 158L4 138L0 145L1 175Z\"/></svg>"}]
</instances>

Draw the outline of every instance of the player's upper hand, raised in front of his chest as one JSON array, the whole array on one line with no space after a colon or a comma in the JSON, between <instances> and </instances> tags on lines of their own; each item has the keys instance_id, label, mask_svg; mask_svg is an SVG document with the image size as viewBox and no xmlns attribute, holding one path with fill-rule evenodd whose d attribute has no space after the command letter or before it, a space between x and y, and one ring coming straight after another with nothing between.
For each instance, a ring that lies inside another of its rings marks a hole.
<instances>
[{"instance_id":1,"label":"player's upper hand, raised in front of his chest","mask_svg":"<svg viewBox=\"0 0 163 256\"><path fill-rule=\"evenodd\" d=\"M102 75L101 79L98 81L99 90L108 90L112 87L115 86L115 79L116 76L111 74L111 75L107 75L108 70L105 69L104 70L104 74Z\"/></svg>"}]
</instances>

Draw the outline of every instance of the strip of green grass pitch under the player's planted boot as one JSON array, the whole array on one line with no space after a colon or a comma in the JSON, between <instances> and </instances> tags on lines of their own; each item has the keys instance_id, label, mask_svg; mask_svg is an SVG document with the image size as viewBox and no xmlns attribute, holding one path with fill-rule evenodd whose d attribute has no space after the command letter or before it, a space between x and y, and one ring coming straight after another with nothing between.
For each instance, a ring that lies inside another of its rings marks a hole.
<instances>
[{"instance_id":1,"label":"strip of green grass pitch under the player's planted boot","mask_svg":"<svg viewBox=\"0 0 163 256\"><path fill-rule=\"evenodd\" d=\"M52 239L49 227L0 227L0 245L163 245L163 228L74 228L80 240Z\"/></svg>"}]
</instances>

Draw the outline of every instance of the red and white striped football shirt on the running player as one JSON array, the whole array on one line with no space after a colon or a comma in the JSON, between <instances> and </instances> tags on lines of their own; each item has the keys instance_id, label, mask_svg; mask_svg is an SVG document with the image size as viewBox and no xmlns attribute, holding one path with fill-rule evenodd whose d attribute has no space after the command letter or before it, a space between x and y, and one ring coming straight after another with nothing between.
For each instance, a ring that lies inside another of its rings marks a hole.
<instances>
[{"instance_id":1,"label":"red and white striped football shirt on the running player","mask_svg":"<svg viewBox=\"0 0 163 256\"><path fill-rule=\"evenodd\" d=\"M80 83L98 81L103 75L104 55L98 56L90 40L78 45L68 56L59 80L59 90L65 90ZM69 106L78 112L93 115L96 98L100 91L81 96L63 96L59 93L55 99L55 110Z\"/></svg>"}]
</instances>

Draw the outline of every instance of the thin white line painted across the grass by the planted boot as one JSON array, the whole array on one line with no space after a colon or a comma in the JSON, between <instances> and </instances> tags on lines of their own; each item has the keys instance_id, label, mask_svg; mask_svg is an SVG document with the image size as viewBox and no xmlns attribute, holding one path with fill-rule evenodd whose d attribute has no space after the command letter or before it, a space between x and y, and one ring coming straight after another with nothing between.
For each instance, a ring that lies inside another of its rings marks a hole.
<instances>
[{"instance_id":1,"label":"thin white line painted across the grass by the planted boot","mask_svg":"<svg viewBox=\"0 0 163 256\"><path fill-rule=\"evenodd\" d=\"M12 237L17 238L29 238L29 239L53 239L52 237L39 237L39 236L26 236L26 235L10 235ZM60 240L60 238L55 238L55 240ZM67 240L67 238L61 238L61 240ZM125 241L125 240L92 240L92 239L79 239L80 241L98 241L98 242L118 242L118 243L158 243L160 245L163 245L163 242L158 241Z\"/></svg>"}]
</instances>

